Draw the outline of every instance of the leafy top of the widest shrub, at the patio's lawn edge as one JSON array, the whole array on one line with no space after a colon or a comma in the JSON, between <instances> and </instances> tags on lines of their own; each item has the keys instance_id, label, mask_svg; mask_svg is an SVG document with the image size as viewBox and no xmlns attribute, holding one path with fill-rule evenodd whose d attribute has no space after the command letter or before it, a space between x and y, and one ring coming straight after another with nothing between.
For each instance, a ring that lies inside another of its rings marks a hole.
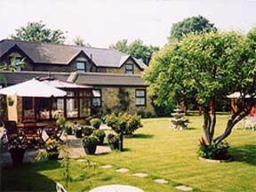
<instances>
[{"instance_id":1,"label":"leafy top of the widest shrub, at the patio's lawn edge","mask_svg":"<svg viewBox=\"0 0 256 192\"><path fill-rule=\"evenodd\" d=\"M104 116L104 121L116 133L124 132L124 134L132 134L137 129L142 127L140 116L132 116L127 113L119 113L118 115L109 114Z\"/></svg>"}]
</instances>

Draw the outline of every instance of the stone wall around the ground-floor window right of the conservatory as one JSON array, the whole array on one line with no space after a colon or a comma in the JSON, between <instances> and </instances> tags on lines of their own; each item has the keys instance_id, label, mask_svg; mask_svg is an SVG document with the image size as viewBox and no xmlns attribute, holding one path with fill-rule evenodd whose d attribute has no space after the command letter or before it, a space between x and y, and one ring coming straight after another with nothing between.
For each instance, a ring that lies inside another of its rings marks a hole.
<instances>
[{"instance_id":1,"label":"stone wall around the ground-floor window right of the conservatory","mask_svg":"<svg viewBox=\"0 0 256 192\"><path fill-rule=\"evenodd\" d=\"M119 105L119 98L117 97L119 89L121 87L100 87L101 88L101 100L102 100L102 110L107 112L108 109L113 111L118 111L117 106ZM131 114L136 113L139 110L155 112L154 107L151 104L151 100L147 94L147 105L145 107L137 107L135 105L135 90L136 89L146 89L146 87L122 87L125 92L129 92L130 106L128 112Z\"/></svg>"}]
</instances>

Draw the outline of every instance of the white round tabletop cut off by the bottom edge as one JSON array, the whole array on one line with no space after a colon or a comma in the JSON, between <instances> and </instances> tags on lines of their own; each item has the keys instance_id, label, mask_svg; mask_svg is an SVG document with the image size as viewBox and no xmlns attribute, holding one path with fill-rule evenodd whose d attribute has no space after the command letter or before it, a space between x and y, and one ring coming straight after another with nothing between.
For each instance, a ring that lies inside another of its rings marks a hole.
<instances>
[{"instance_id":1,"label":"white round tabletop cut off by the bottom edge","mask_svg":"<svg viewBox=\"0 0 256 192\"><path fill-rule=\"evenodd\" d=\"M143 192L140 188L135 188L127 185L107 185L98 188L93 188L90 192Z\"/></svg>"}]
</instances>

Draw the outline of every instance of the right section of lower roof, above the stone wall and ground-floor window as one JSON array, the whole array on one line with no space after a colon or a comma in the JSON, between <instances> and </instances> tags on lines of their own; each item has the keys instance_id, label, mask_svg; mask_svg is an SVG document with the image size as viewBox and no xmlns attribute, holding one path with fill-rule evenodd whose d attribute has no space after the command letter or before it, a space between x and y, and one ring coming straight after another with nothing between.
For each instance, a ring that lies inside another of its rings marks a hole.
<instances>
[{"instance_id":1,"label":"right section of lower roof, above the stone wall and ground-floor window","mask_svg":"<svg viewBox=\"0 0 256 192\"><path fill-rule=\"evenodd\" d=\"M106 73L78 73L76 77L76 84L89 84L89 85L132 85L132 86L145 86L141 76L136 75L117 75Z\"/></svg>"}]
</instances>

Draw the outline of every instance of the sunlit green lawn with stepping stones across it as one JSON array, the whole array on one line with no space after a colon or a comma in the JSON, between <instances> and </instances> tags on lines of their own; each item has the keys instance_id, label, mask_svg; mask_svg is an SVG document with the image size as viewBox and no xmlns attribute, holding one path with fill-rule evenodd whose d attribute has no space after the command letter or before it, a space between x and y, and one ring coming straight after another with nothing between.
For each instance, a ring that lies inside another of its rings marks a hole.
<instances>
[{"instance_id":1,"label":"sunlit green lawn with stepping stones across it","mask_svg":"<svg viewBox=\"0 0 256 192\"><path fill-rule=\"evenodd\" d=\"M102 170L71 162L72 182L68 191L88 191L107 184L128 184L145 191L175 191L185 184L195 191L256 191L256 132L234 130L228 137L230 153L236 161L211 164L198 160L196 150L202 136L202 116L189 116L191 124L183 132L169 128L168 118L144 119L143 128L135 138L125 139L125 151L90 156L93 162L126 167L128 174L115 169ZM217 133L225 127L227 116L218 116ZM131 176L132 172L147 172L146 179ZM4 168L2 190L52 191L54 182L62 184L58 162L26 164L20 168ZM164 178L169 184L156 184L152 179Z\"/></svg>"}]
</instances>

